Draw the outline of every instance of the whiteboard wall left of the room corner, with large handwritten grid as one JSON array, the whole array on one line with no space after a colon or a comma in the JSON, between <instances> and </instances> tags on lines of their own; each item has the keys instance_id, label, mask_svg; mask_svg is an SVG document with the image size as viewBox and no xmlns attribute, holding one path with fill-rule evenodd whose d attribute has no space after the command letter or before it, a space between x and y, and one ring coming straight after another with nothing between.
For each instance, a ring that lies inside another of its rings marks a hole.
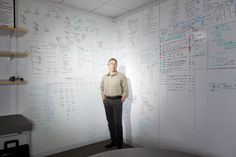
<instances>
[{"instance_id":1,"label":"whiteboard wall left of the room corner, with large handwritten grid","mask_svg":"<svg viewBox=\"0 0 236 157\"><path fill-rule=\"evenodd\" d=\"M33 122L32 154L44 156L109 138L100 96L112 57L111 19L49 2L20 0L19 112Z\"/></svg>"}]
</instances>

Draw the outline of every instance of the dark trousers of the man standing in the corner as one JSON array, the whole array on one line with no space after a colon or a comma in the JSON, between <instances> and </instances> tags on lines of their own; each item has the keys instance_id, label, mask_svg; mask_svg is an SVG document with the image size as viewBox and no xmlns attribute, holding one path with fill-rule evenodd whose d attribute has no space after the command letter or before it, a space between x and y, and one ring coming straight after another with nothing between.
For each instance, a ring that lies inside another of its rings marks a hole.
<instances>
[{"instance_id":1,"label":"dark trousers of the man standing in the corner","mask_svg":"<svg viewBox=\"0 0 236 157\"><path fill-rule=\"evenodd\" d=\"M122 102L121 99L104 100L108 128L110 131L111 141L113 144L123 144L123 128L122 128Z\"/></svg>"}]
</instances>

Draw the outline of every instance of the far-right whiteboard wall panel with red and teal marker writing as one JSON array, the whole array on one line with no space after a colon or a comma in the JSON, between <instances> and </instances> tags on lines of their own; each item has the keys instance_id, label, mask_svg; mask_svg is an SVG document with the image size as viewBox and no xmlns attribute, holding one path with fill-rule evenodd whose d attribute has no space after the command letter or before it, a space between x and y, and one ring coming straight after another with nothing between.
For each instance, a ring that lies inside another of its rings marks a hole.
<instances>
[{"instance_id":1,"label":"far-right whiteboard wall panel with red and teal marker writing","mask_svg":"<svg viewBox=\"0 0 236 157\"><path fill-rule=\"evenodd\" d=\"M160 146L236 155L236 1L160 4Z\"/></svg>"}]
</instances>

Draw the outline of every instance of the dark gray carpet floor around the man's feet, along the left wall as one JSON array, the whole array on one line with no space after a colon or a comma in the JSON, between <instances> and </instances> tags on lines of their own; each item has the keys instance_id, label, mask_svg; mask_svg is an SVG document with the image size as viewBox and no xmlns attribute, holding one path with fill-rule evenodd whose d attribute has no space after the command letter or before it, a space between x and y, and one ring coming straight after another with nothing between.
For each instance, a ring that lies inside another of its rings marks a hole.
<instances>
[{"instance_id":1,"label":"dark gray carpet floor around the man's feet, along the left wall","mask_svg":"<svg viewBox=\"0 0 236 157\"><path fill-rule=\"evenodd\" d=\"M79 147L76 149L68 150L65 152L57 153L57 154L50 155L47 157L88 157L90 155L94 155L97 153L102 153L105 151L111 151L111 150L116 149L115 147L109 148L109 149L104 147L106 144L109 144L109 143L110 143L110 140L101 141L98 143L94 143L94 144ZM123 149L125 149L125 148L132 148L132 146L124 144Z\"/></svg>"}]
</instances>

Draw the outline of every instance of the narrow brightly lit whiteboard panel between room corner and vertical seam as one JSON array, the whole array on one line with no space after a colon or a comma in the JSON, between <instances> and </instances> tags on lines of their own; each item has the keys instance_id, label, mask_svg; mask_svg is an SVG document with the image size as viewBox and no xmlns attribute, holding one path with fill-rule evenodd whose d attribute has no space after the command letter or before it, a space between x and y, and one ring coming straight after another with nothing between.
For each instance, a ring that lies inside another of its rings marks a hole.
<instances>
[{"instance_id":1,"label":"narrow brightly lit whiteboard panel between room corner and vertical seam","mask_svg":"<svg viewBox=\"0 0 236 157\"><path fill-rule=\"evenodd\" d=\"M123 104L124 137L146 147L159 145L158 30L157 3L116 19L114 26L114 56L130 87Z\"/></svg>"}]
</instances>

